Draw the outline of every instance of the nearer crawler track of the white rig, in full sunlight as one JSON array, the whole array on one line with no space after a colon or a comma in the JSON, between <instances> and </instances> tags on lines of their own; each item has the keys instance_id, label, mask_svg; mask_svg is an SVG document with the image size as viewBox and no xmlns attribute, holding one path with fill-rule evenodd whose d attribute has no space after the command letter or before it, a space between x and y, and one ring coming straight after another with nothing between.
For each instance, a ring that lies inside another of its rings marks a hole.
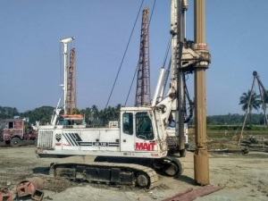
<instances>
[{"instance_id":1,"label":"nearer crawler track of the white rig, in full sunlight","mask_svg":"<svg viewBox=\"0 0 268 201\"><path fill-rule=\"evenodd\" d=\"M158 180L155 170L133 163L54 163L50 175L139 188L154 188Z\"/></svg>"}]
</instances>

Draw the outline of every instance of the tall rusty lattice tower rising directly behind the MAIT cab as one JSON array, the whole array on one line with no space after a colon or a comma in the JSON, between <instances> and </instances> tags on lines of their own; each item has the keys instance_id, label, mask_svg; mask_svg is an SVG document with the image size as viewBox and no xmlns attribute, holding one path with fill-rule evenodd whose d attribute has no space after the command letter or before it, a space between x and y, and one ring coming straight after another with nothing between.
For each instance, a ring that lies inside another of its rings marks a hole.
<instances>
[{"instance_id":1,"label":"tall rusty lattice tower rising directly behind the MAIT cab","mask_svg":"<svg viewBox=\"0 0 268 201\"><path fill-rule=\"evenodd\" d=\"M142 12L135 106L151 102L148 13L148 8Z\"/></svg>"}]
</instances>

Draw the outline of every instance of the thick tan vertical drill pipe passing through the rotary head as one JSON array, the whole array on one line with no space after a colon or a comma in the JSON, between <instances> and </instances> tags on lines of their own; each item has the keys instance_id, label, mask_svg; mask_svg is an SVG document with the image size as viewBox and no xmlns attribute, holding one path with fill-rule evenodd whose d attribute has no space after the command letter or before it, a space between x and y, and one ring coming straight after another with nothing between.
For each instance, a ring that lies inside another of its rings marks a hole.
<instances>
[{"instance_id":1,"label":"thick tan vertical drill pipe passing through the rotary head","mask_svg":"<svg viewBox=\"0 0 268 201\"><path fill-rule=\"evenodd\" d=\"M208 54L205 43L205 0L195 0L195 50L201 55ZM195 135L196 151L194 155L195 180L200 185L209 184L209 163L206 147L205 113L205 70L208 62L201 61L194 67L195 74Z\"/></svg>"}]
</instances>

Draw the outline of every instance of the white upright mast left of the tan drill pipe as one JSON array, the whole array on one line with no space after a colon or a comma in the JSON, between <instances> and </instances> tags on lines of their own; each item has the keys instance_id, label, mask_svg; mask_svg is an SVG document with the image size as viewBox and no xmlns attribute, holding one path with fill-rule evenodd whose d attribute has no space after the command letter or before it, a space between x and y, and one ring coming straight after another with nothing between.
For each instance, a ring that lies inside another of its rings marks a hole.
<instances>
[{"instance_id":1,"label":"white upright mast left of the tan drill pipe","mask_svg":"<svg viewBox=\"0 0 268 201\"><path fill-rule=\"evenodd\" d=\"M178 147L180 156L185 155L184 147L184 102L185 84L184 71L181 66L182 48L185 38L185 12L188 9L187 1L171 1L171 34L172 34L172 88L177 92L177 104L173 105L172 113L176 121L176 136L179 136Z\"/></svg>"}]
</instances>

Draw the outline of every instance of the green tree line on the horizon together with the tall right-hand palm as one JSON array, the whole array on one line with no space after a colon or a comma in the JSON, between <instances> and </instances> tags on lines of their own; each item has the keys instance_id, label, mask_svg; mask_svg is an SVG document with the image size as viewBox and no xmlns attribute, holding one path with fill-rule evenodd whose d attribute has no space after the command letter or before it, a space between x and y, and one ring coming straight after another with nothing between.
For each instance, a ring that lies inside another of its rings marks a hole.
<instances>
[{"instance_id":1,"label":"green tree line on the horizon together with the tall right-hand palm","mask_svg":"<svg viewBox=\"0 0 268 201\"><path fill-rule=\"evenodd\" d=\"M251 95L251 97L250 97ZM261 105L263 105L262 96L257 95L255 91L251 94L248 90L247 93L243 93L239 98L239 105L244 112L249 113L246 124L251 125L264 125L265 115L264 113L252 113L253 110L259 112ZM263 95L264 99L264 111L268 104L268 98L266 93ZM249 101L250 100L250 101ZM103 127L108 124L109 121L119 121L121 104L115 106L108 106L105 109L99 109L96 105L86 107L86 109L77 109L76 113L82 114L85 117L85 121L91 127ZM36 124L39 121L40 125L50 123L52 115L54 113L54 107L41 106L33 110L20 113L16 107L0 106L0 119L9 119L14 117L24 118L29 121L30 124ZM206 123L208 125L241 125L245 120L245 114L228 113L223 115L210 115L206 117ZM194 120L189 121L189 124L194 124Z\"/></svg>"}]
</instances>

